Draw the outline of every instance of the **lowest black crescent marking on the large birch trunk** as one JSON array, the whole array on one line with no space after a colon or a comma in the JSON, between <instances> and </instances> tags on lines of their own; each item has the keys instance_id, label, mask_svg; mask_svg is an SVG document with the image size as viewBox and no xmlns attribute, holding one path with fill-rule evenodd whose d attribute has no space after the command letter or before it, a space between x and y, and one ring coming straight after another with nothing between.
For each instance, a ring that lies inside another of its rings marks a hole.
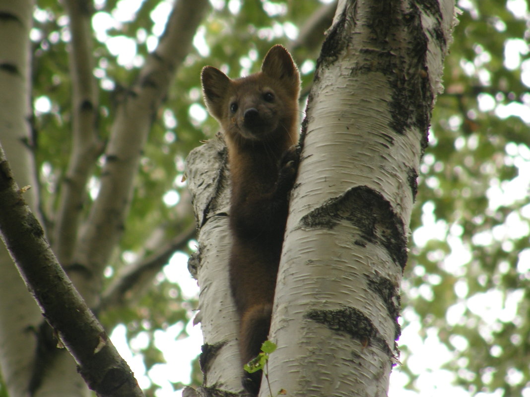
<instances>
[{"instance_id":1,"label":"lowest black crescent marking on the large birch trunk","mask_svg":"<svg viewBox=\"0 0 530 397\"><path fill-rule=\"evenodd\" d=\"M372 321L358 309L347 306L343 309L308 311L304 318L322 324L337 333L346 333L351 339L358 340L363 346L375 347L393 357L392 349L388 346L381 333Z\"/></svg>"}]
</instances>

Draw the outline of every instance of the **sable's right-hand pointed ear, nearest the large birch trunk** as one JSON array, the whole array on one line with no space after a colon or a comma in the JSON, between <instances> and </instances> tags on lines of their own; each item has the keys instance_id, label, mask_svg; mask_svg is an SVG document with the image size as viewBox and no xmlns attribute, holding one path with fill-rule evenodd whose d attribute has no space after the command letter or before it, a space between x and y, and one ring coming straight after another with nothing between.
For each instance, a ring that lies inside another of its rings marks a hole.
<instances>
[{"instance_id":1,"label":"sable's right-hand pointed ear, nearest the large birch trunk","mask_svg":"<svg viewBox=\"0 0 530 397\"><path fill-rule=\"evenodd\" d=\"M287 84L289 89L296 90L296 95L298 96L300 89L298 68L284 46L277 44L267 52L261 65L261 71L267 76Z\"/></svg>"}]
</instances>

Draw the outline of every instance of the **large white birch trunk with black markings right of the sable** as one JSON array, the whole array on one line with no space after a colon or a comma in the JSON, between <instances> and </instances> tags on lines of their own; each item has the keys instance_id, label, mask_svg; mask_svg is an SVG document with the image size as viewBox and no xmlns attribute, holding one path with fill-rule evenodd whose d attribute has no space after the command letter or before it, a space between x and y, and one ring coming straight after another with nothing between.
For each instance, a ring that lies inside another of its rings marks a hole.
<instances>
[{"instance_id":1,"label":"large white birch trunk with black markings right of the sable","mask_svg":"<svg viewBox=\"0 0 530 397\"><path fill-rule=\"evenodd\" d=\"M453 10L453 0L339 1L303 124L269 336L272 395L387 394Z\"/></svg>"}]
</instances>

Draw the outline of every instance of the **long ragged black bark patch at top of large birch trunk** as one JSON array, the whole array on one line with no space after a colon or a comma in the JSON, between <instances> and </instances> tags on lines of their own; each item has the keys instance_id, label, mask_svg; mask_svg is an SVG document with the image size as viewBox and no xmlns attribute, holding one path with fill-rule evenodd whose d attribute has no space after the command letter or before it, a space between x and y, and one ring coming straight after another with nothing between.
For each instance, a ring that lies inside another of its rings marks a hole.
<instances>
[{"instance_id":1,"label":"long ragged black bark patch at top of large birch trunk","mask_svg":"<svg viewBox=\"0 0 530 397\"><path fill-rule=\"evenodd\" d=\"M421 5L426 13L440 21L439 10L432 0ZM360 57L350 70L352 76L382 73L388 86L393 87L388 111L392 120L388 127L398 134L409 129L422 132L421 147L427 147L429 118L434 95L427 78L427 37L421 24L417 5L405 14L399 11L399 2L386 1L370 6L367 26L372 45L359 49ZM445 42L439 25L432 34Z\"/></svg>"}]
</instances>

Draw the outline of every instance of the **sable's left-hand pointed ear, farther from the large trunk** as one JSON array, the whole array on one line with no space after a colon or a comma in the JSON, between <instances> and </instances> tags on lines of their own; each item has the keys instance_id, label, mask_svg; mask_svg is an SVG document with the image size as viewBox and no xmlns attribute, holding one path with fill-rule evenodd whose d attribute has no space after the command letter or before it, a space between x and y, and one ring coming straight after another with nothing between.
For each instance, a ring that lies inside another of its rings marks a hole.
<instances>
[{"instance_id":1,"label":"sable's left-hand pointed ear, farther from the large trunk","mask_svg":"<svg viewBox=\"0 0 530 397\"><path fill-rule=\"evenodd\" d=\"M230 80L222 71L213 66L202 68L201 74L202 94L208 111L217 120L223 116L223 104L226 97Z\"/></svg>"}]
</instances>

